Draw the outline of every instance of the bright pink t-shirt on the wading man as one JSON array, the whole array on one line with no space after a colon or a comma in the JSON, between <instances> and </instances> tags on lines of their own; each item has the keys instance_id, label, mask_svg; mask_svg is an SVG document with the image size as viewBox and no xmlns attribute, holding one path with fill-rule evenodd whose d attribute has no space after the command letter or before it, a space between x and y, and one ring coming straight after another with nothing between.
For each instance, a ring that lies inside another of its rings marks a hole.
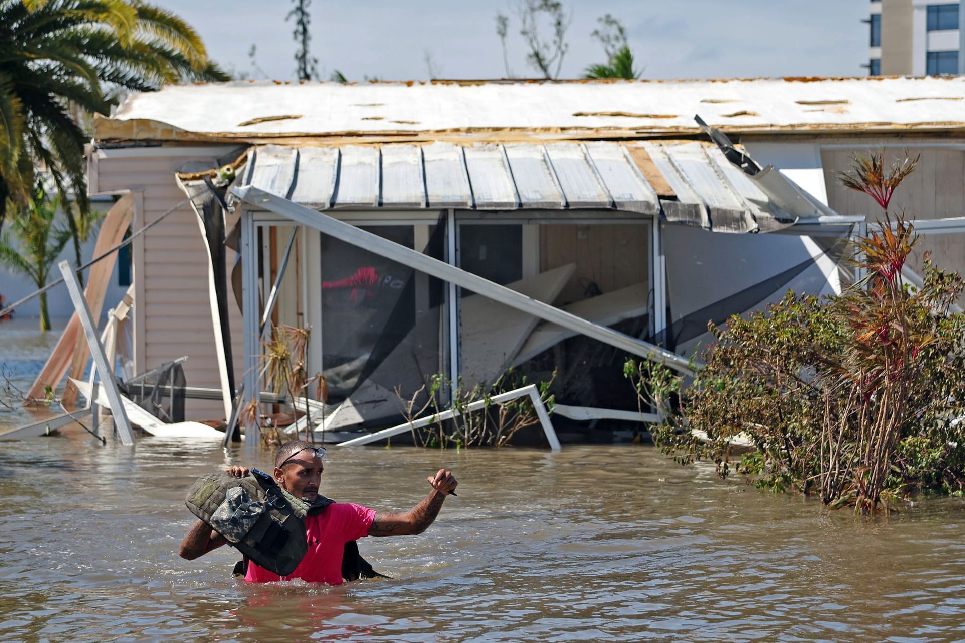
<instances>
[{"instance_id":1,"label":"bright pink t-shirt on the wading man","mask_svg":"<svg viewBox=\"0 0 965 643\"><path fill-rule=\"evenodd\" d=\"M305 518L308 552L289 576L278 576L248 561L249 582L271 582L301 578L309 582L342 584L342 554L345 543L369 535L375 511L357 504L334 502L324 511Z\"/></svg>"}]
</instances>

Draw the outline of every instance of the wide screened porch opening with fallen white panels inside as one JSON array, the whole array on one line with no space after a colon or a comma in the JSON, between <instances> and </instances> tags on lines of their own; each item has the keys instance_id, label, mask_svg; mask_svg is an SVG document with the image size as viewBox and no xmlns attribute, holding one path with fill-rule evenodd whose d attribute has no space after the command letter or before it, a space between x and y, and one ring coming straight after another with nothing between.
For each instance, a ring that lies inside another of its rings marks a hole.
<instances>
[{"instance_id":1,"label":"wide screened porch opening with fallen white panels inside","mask_svg":"<svg viewBox=\"0 0 965 643\"><path fill-rule=\"evenodd\" d=\"M492 270L472 253L496 228L503 228L498 240L513 253L500 267L502 278L520 276L504 281L508 287L627 335L650 336L648 223L460 223L460 267L483 277ZM619 349L470 293L460 300L459 330L465 386L491 384L510 367L529 383L553 379L555 372L552 391L561 403L636 410Z\"/></svg>"}]
</instances>

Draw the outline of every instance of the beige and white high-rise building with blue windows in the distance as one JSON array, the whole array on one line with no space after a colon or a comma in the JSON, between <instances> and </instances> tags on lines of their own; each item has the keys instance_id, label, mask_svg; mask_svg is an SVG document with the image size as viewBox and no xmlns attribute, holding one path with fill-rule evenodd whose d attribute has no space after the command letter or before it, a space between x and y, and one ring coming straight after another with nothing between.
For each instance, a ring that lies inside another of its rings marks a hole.
<instances>
[{"instance_id":1,"label":"beige and white high-rise building with blue windows in the distance","mask_svg":"<svg viewBox=\"0 0 965 643\"><path fill-rule=\"evenodd\" d=\"M937 76L965 71L960 2L871 0L870 76Z\"/></svg>"}]
</instances>

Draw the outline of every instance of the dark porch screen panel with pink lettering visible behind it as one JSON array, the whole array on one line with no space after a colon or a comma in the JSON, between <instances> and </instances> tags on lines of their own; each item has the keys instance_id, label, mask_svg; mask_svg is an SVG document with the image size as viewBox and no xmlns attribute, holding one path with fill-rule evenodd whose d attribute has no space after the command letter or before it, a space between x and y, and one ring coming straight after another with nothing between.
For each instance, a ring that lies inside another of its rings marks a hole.
<instances>
[{"instance_id":1,"label":"dark porch screen panel with pink lettering visible behind it","mask_svg":"<svg viewBox=\"0 0 965 643\"><path fill-rule=\"evenodd\" d=\"M443 258L444 225L360 226ZM432 373L445 370L444 284L408 266L321 235L322 373L329 403L349 395L365 422L399 415ZM359 419L341 413L345 420ZM341 422L337 421L336 426Z\"/></svg>"}]
</instances>

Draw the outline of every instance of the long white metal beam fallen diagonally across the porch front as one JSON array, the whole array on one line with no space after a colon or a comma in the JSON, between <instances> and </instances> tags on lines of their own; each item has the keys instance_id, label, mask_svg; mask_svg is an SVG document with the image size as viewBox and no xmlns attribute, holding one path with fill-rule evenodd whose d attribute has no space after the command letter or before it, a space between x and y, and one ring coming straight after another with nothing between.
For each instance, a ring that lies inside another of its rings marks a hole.
<instances>
[{"instance_id":1,"label":"long white metal beam fallen diagonally across the porch front","mask_svg":"<svg viewBox=\"0 0 965 643\"><path fill-rule=\"evenodd\" d=\"M540 319L559 324L564 328L576 331L580 335L592 337L605 344L624 350L631 355L664 363L685 375L694 374L691 363L686 358L672 351L654 346L630 335L623 335L605 326L593 324L593 322L587 321L582 317L578 317L560 308L555 308L549 304L538 302L515 290L511 290L493 281L485 280L478 275L466 272L444 261L423 255L419 251L406 248L388 239L383 239L376 234L372 234L372 232L356 228L321 212L288 201L287 199L276 197L252 186L233 187L231 192L240 201L245 201L257 208L282 214L291 221L310 228L316 228L346 243L365 248L376 255L385 256L416 270L421 270L438 279L449 281L473 292L478 292L484 297L499 302L500 304L505 304L510 308L516 308L535 315ZM248 258L251 255L245 256ZM254 263L250 258L248 258L247 262L249 264ZM257 316L256 312L255 317L257 318Z\"/></svg>"}]
</instances>

